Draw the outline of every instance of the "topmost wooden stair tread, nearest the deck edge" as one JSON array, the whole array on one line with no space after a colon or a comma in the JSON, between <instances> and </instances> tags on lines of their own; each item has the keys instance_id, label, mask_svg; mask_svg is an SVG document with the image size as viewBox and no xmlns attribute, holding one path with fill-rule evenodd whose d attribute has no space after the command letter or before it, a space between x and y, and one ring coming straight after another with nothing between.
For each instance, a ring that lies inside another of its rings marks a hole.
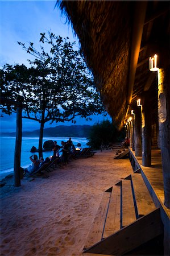
<instances>
[{"instance_id":1,"label":"topmost wooden stair tread, nearest the deck edge","mask_svg":"<svg viewBox=\"0 0 170 256\"><path fill-rule=\"evenodd\" d=\"M138 217L142 217L152 212L152 210L154 210L156 207L152 200L150 192L148 191L146 184L144 183L142 175L135 173L131 175L131 178L134 187Z\"/></svg>"}]
</instances>

